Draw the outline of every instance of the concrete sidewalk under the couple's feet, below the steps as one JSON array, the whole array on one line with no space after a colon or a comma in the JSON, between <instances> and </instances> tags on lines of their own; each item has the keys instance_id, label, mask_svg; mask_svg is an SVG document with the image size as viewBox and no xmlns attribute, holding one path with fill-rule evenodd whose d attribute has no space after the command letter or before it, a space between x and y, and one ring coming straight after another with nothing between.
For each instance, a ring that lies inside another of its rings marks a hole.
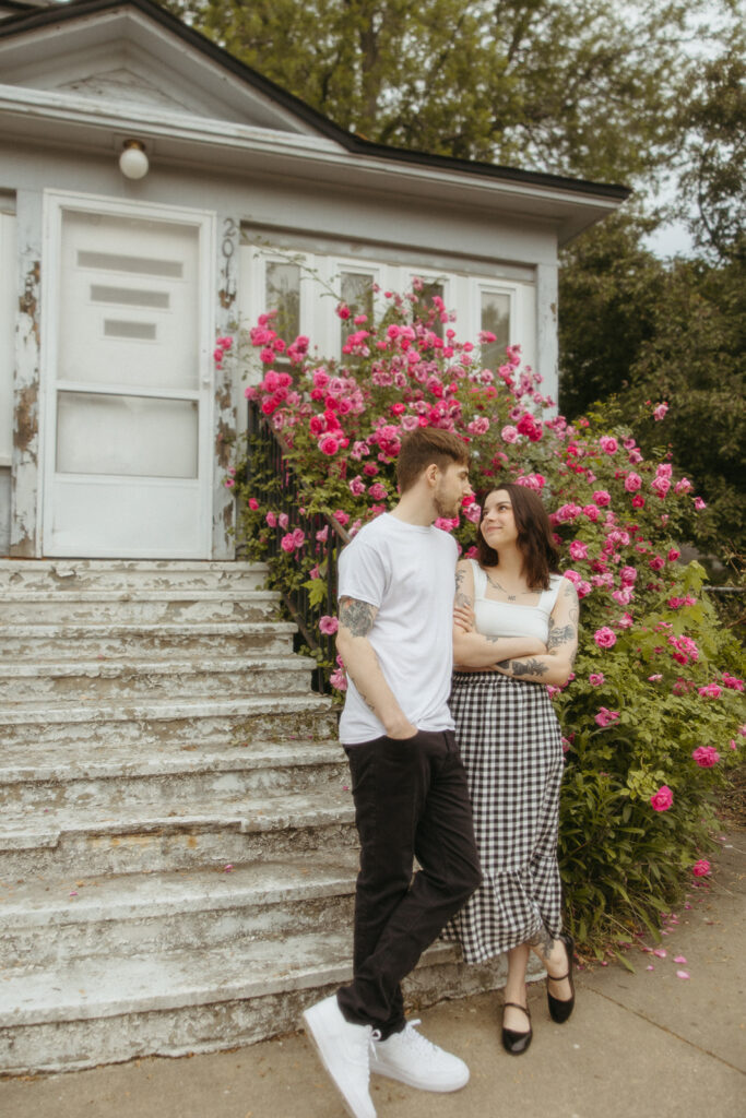
<instances>
[{"instance_id":1,"label":"concrete sidewalk under the couple's feet, below the steps","mask_svg":"<svg viewBox=\"0 0 746 1118\"><path fill-rule=\"evenodd\" d=\"M577 975L577 1006L549 1018L530 993L533 1043L500 1045L499 994L423 1013L423 1032L470 1064L456 1095L372 1079L379 1118L740 1118L746 1114L746 832L711 861L709 888L663 938L665 958L630 953ZM686 964L677 964L684 956ZM653 966L653 970L646 970ZM686 970L690 978L677 977ZM0 1081L2 1118L344 1118L303 1034L182 1060Z\"/></svg>"}]
</instances>

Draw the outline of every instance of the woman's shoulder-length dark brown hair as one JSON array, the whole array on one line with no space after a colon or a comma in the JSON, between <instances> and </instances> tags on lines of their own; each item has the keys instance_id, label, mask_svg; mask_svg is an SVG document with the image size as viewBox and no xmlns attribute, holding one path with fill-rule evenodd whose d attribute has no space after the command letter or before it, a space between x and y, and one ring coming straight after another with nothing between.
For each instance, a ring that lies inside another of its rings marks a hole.
<instances>
[{"instance_id":1,"label":"woman's shoulder-length dark brown hair","mask_svg":"<svg viewBox=\"0 0 746 1118\"><path fill-rule=\"evenodd\" d=\"M516 485L514 482L507 482L504 485L493 485L480 495L479 502L482 506L479 528L476 531L476 557L481 567L499 566L498 552L488 546L482 536L482 520L484 519L484 502L491 493L498 490L504 492L510 498L513 506L513 517L518 530L518 549L523 557L523 572L526 581L531 590L548 590L549 575L559 574L557 563L559 551L553 540L551 524L547 510L544 508L538 493L527 489L526 485Z\"/></svg>"}]
</instances>

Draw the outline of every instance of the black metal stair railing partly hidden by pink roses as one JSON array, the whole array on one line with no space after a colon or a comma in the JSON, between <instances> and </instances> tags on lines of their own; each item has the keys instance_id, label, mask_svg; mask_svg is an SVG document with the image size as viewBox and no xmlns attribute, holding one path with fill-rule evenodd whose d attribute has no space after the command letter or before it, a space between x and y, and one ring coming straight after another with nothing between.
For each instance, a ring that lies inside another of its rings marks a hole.
<instances>
[{"instance_id":1,"label":"black metal stair railing partly hidden by pink roses","mask_svg":"<svg viewBox=\"0 0 746 1118\"><path fill-rule=\"evenodd\" d=\"M333 634L321 633L319 620L324 615L337 615L337 556L349 543L350 537L333 518L305 511L304 504L310 498L308 486L293 472L286 457L287 445L255 400L248 401L247 448L247 480L254 483L256 491L267 493L277 513L286 513L291 529L300 528L305 537L301 547L293 551L298 566L295 578L286 575L287 556L281 547L285 529L280 524L270 532L267 565L273 588L280 591L290 617L298 626L296 651L305 644L319 661L312 685L315 691L328 694L337 650ZM323 580L323 597L315 604L303 585L313 567L319 567Z\"/></svg>"}]
</instances>

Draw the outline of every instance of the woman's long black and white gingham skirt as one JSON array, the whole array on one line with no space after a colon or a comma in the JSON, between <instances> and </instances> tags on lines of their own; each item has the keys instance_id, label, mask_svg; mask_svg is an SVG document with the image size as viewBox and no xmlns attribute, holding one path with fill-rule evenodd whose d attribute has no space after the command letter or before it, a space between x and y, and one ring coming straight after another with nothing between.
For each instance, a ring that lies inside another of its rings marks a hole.
<instances>
[{"instance_id":1,"label":"woman's long black and white gingham skirt","mask_svg":"<svg viewBox=\"0 0 746 1118\"><path fill-rule=\"evenodd\" d=\"M561 931L561 733L544 684L499 672L456 672L451 713L484 880L442 935L481 963Z\"/></svg>"}]
</instances>

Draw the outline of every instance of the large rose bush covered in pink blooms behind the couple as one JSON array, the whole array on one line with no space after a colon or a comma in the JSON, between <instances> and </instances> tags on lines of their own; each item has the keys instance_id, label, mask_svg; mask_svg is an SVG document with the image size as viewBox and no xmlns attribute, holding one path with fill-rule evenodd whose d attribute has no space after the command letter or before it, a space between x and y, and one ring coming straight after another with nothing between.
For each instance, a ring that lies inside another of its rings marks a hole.
<instances>
[{"instance_id":1,"label":"large rose bush covered in pink blooms behind the couple","mask_svg":"<svg viewBox=\"0 0 746 1118\"><path fill-rule=\"evenodd\" d=\"M478 494L502 480L541 494L582 603L575 674L550 689L566 750L560 865L568 925L597 949L610 938L629 940L641 925L655 931L658 913L702 864L715 790L746 732L739 646L702 594L703 570L680 562L680 543L696 532L703 502L665 453L643 456L613 408L573 425L551 415L553 401L540 378L521 368L518 345L508 347L501 366L485 368L480 344L459 340L440 299L417 316L422 285L385 299L378 324L353 319L340 362L310 356L305 337L277 338L272 315L263 315L245 340L263 366L246 396L285 444L306 511L325 513L350 534L395 503L402 438L419 426L464 438ZM343 321L350 313L338 307ZM220 361L230 349L225 341ZM482 345L493 341L479 338ZM664 425L667 401L650 408ZM226 485L236 493L249 557L264 559L271 533L281 533L274 585L303 581L321 600L323 565L336 552L320 560L314 541L278 511L280 481L247 473L237 454ZM478 503L466 502L457 520L438 527L469 553L478 518ZM327 537L324 529L315 543ZM324 615L321 632L330 623ZM342 690L341 666L328 667Z\"/></svg>"}]
</instances>

